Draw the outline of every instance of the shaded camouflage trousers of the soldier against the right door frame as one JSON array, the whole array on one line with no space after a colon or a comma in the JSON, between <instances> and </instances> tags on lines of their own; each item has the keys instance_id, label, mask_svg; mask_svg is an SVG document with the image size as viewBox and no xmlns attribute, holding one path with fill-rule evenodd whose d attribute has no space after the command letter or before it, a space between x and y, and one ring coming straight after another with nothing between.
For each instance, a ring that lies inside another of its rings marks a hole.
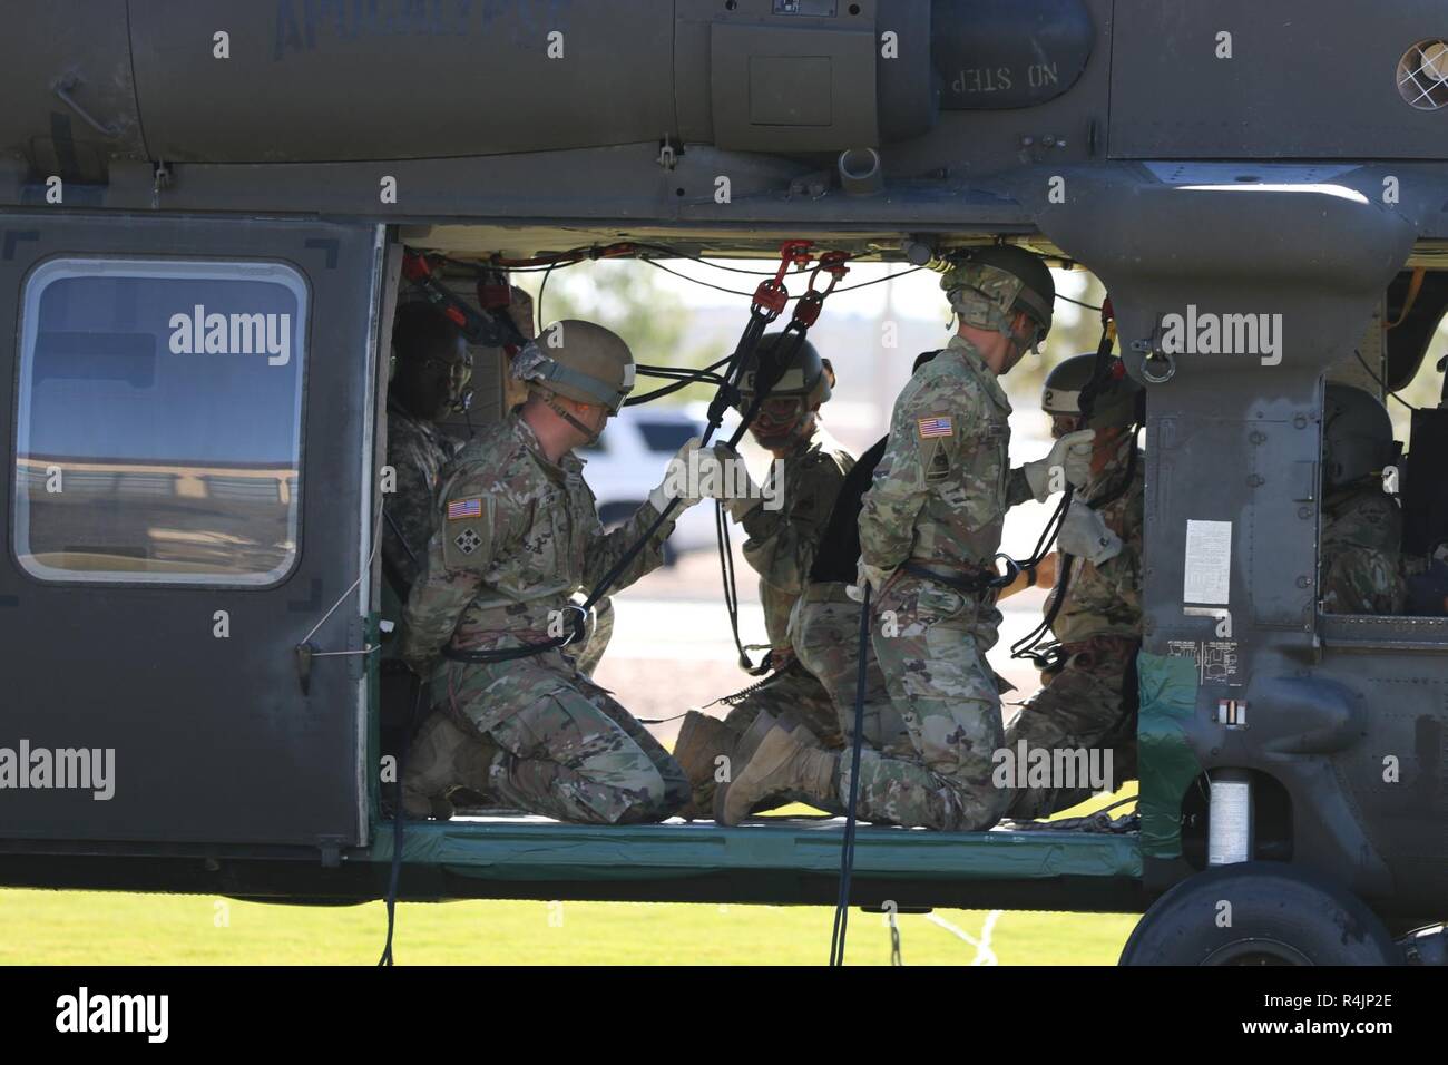
<instances>
[{"instance_id":1,"label":"shaded camouflage trousers of the soldier against the right door frame","mask_svg":"<svg viewBox=\"0 0 1448 1065\"><path fill-rule=\"evenodd\" d=\"M1025 740L1027 751L1099 752L1098 765L1102 767L1111 752L1111 780L1103 790L1115 791L1122 781L1134 778L1135 698L1129 680L1137 668L1138 646L1131 636L1098 636L1064 645L1069 656L1061 668L1006 726L1006 749L1016 752ZM1067 787L1061 781L1053 785L1018 788L1006 813L1016 820L1048 817L1085 803L1093 793L1087 785Z\"/></svg>"}]
</instances>

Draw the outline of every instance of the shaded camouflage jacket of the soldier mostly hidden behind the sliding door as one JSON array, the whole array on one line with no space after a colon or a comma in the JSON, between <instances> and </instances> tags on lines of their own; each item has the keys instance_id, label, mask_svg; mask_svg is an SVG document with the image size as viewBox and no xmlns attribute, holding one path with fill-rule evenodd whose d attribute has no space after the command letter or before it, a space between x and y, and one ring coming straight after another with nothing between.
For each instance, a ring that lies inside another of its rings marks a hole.
<instances>
[{"instance_id":1,"label":"shaded camouflage jacket of the soldier mostly hidden behind the sliding door","mask_svg":"<svg viewBox=\"0 0 1448 1065\"><path fill-rule=\"evenodd\" d=\"M397 474L397 491L388 493L382 503L387 507L382 520L382 565L390 581L401 585L395 588L398 596L407 596L427 559L437 477L460 448L460 440L432 422L414 417L395 401L388 401L387 464Z\"/></svg>"}]
</instances>

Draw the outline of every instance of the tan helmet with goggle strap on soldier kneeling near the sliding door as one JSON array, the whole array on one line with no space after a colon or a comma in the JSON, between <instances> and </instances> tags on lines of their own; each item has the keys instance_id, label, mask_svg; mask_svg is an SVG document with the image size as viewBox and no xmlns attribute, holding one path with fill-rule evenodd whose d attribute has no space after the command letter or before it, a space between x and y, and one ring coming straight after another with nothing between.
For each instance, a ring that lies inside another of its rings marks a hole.
<instances>
[{"instance_id":1,"label":"tan helmet with goggle strap on soldier kneeling near the sliding door","mask_svg":"<svg viewBox=\"0 0 1448 1065\"><path fill-rule=\"evenodd\" d=\"M530 387L617 414L634 384L633 352L618 333L592 322L555 322L513 359Z\"/></svg>"}]
</instances>

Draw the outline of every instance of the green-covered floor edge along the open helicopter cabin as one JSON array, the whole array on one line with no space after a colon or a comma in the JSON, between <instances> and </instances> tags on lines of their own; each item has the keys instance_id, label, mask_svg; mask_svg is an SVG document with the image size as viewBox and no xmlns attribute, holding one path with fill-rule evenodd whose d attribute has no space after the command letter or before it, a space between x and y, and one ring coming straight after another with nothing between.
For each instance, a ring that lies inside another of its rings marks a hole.
<instances>
[{"instance_id":1,"label":"green-covered floor edge along the open helicopter cabin","mask_svg":"<svg viewBox=\"0 0 1448 1065\"><path fill-rule=\"evenodd\" d=\"M391 868L392 822L349 862ZM834 903L844 820L759 817L589 826L544 817L405 822L403 898L588 898L701 903ZM1140 913L1135 833L927 832L859 826L857 906L964 906Z\"/></svg>"}]
</instances>

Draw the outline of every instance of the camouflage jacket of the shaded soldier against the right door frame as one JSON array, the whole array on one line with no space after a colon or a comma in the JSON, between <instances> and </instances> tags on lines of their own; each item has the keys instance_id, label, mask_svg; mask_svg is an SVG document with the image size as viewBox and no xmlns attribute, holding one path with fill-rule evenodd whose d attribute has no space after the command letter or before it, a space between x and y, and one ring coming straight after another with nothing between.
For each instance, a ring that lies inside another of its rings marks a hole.
<instances>
[{"instance_id":1,"label":"camouflage jacket of the shaded soldier against the right door frame","mask_svg":"<svg viewBox=\"0 0 1448 1065\"><path fill-rule=\"evenodd\" d=\"M1121 455L1127 456L1125 448ZM1086 483L1080 497L1093 500L1115 491L1127 465L1127 458L1109 462ZM1134 465L1127 490L1100 509L1106 527L1121 538L1121 552L1100 565L1092 565L1085 558L1072 559L1066 601L1051 625L1061 643L1077 643L1092 636L1141 638L1141 523L1147 464L1140 451ZM1047 613L1054 598L1053 591L1045 600Z\"/></svg>"}]
</instances>

